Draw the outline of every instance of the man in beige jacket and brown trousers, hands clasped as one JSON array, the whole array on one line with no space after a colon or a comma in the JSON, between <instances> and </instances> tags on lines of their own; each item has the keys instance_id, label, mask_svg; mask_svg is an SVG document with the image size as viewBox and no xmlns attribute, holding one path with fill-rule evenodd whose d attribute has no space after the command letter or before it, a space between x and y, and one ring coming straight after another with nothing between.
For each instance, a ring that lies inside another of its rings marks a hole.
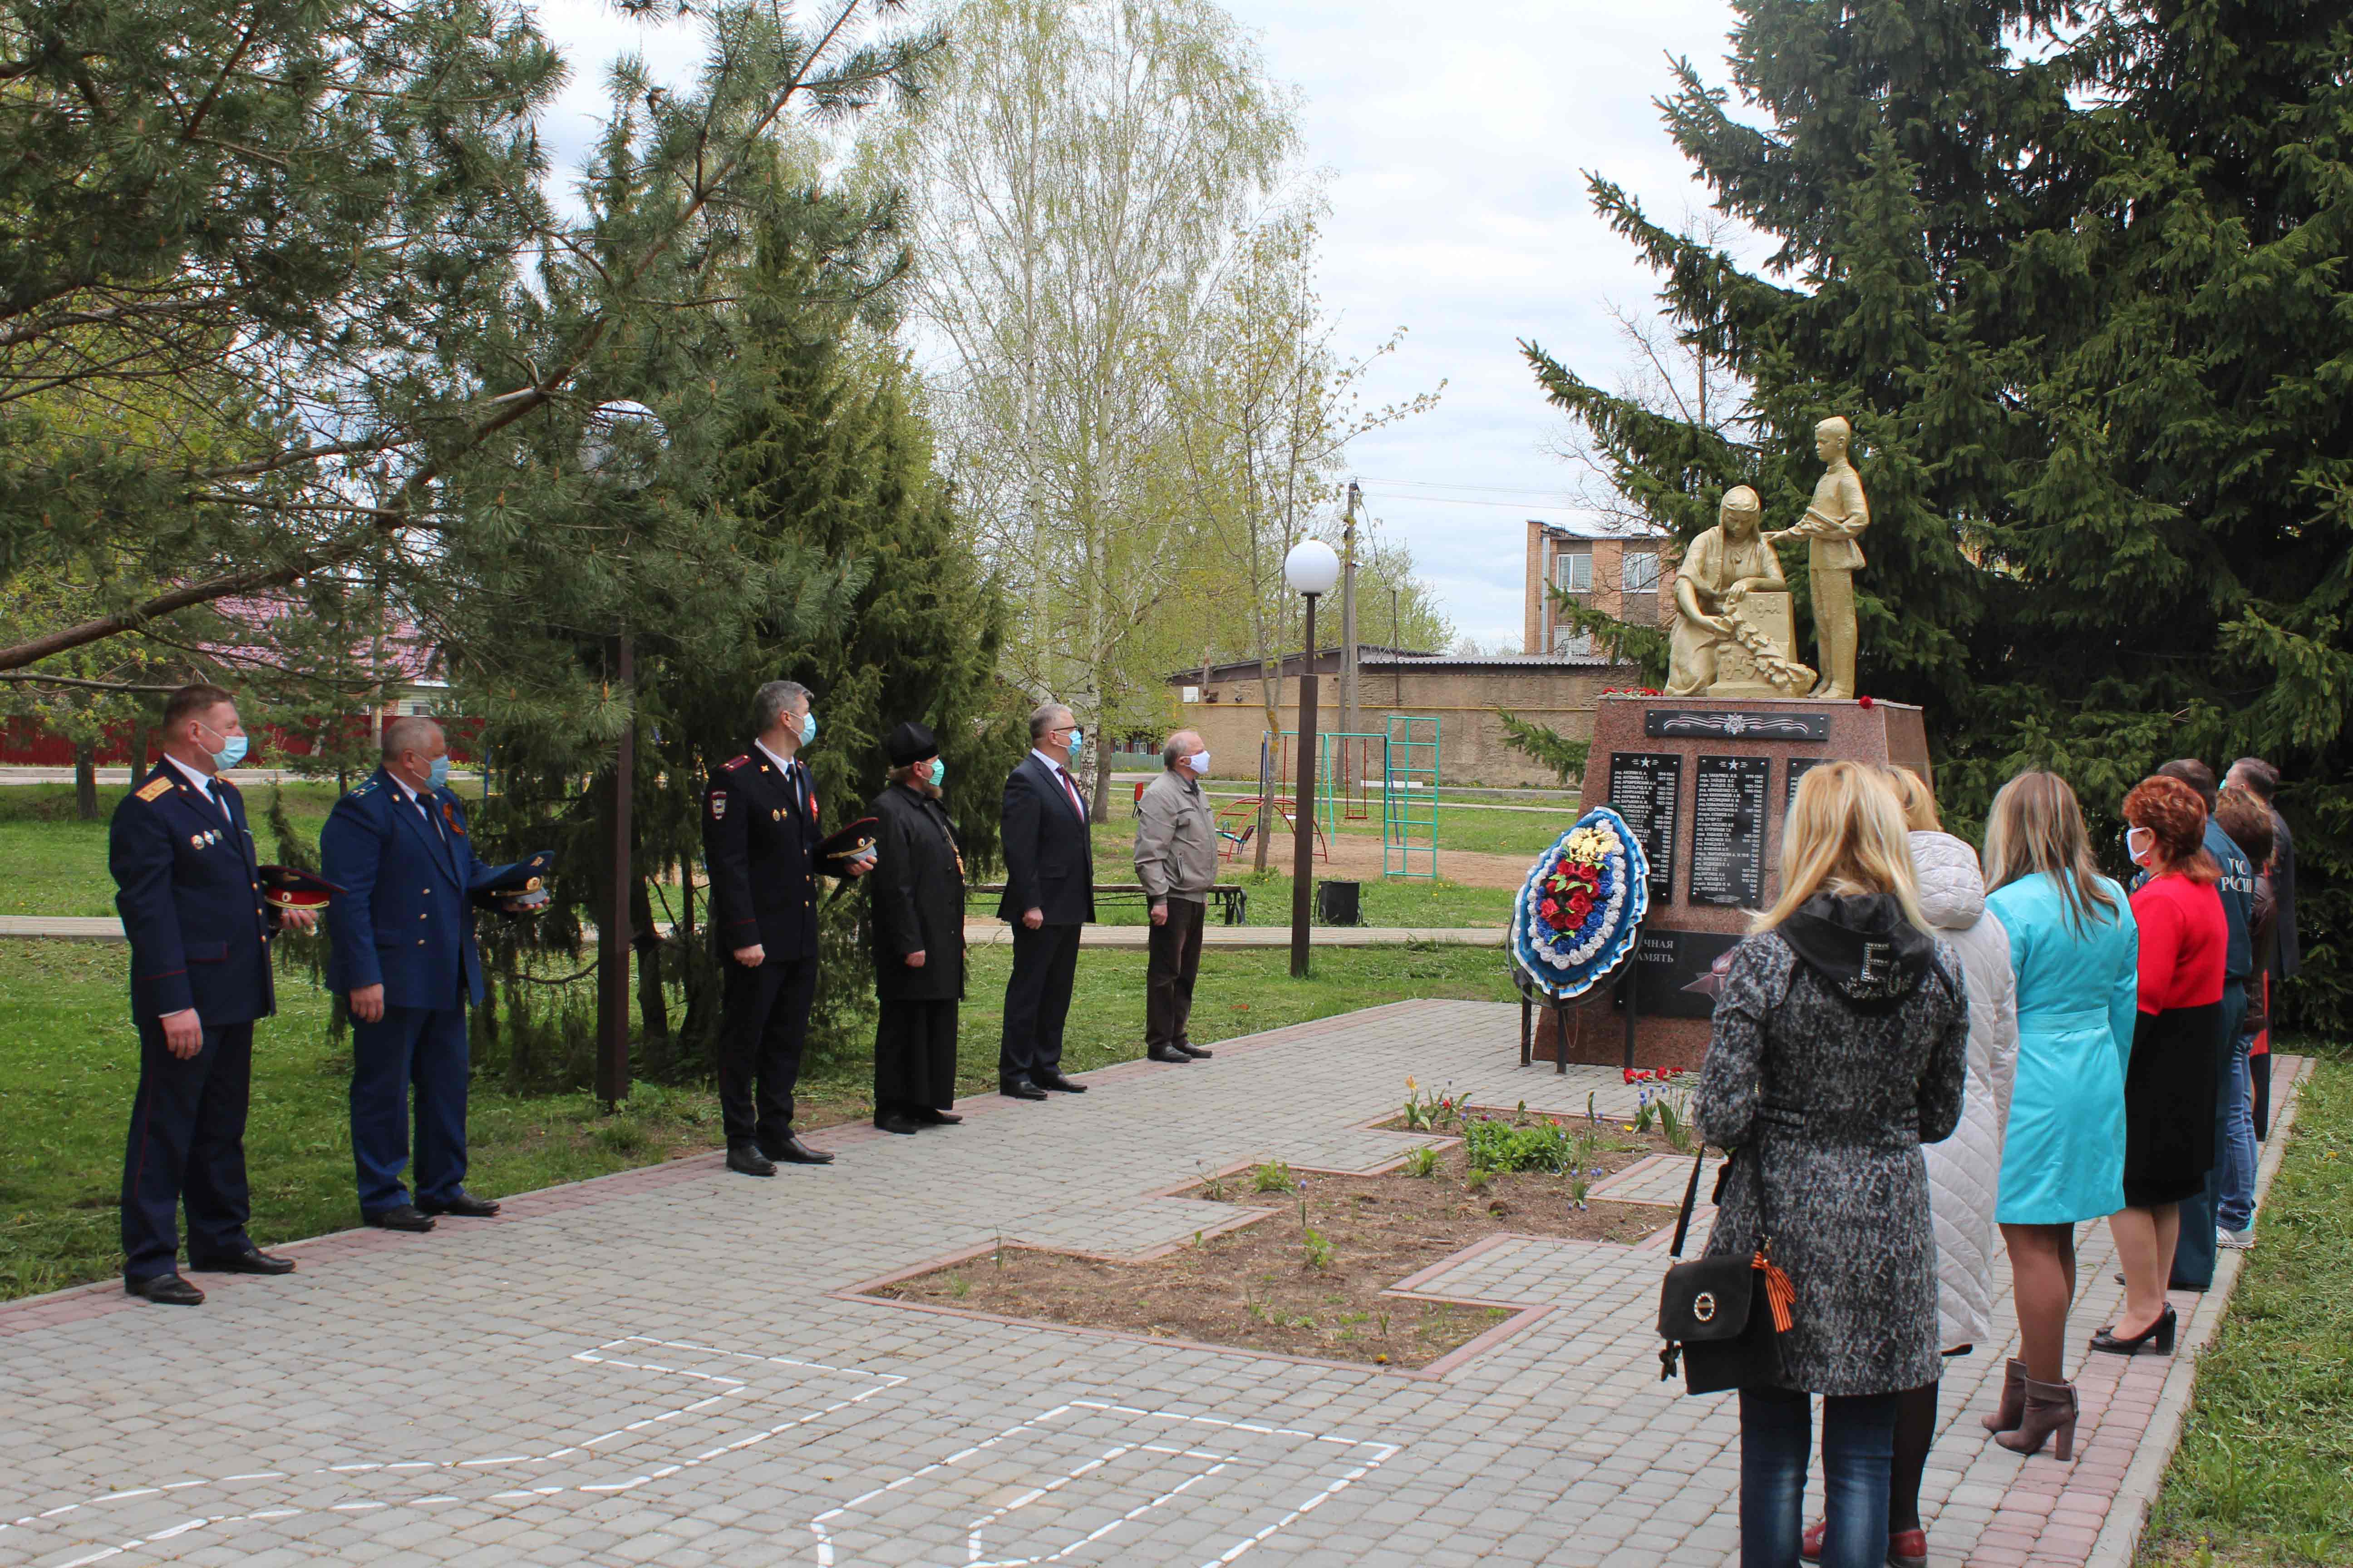
<instances>
[{"instance_id":1,"label":"man in beige jacket and brown trousers, hands clasped","mask_svg":"<svg viewBox=\"0 0 2353 1568\"><path fill-rule=\"evenodd\" d=\"M1200 919L1217 882L1217 820L1200 778L1209 748L1179 729L1160 748L1162 773L1136 802L1136 882L1153 905L1151 959L1144 966L1144 1044L1155 1063L1205 1060L1186 1039L1193 976L1200 973Z\"/></svg>"}]
</instances>

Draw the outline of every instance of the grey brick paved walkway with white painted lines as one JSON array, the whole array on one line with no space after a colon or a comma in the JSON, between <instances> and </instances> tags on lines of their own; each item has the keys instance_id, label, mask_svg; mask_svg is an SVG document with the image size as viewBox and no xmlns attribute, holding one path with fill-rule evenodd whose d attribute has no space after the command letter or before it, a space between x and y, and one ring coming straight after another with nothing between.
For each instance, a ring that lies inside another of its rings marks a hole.
<instances>
[{"instance_id":1,"label":"grey brick paved walkway with white painted lines","mask_svg":"<svg viewBox=\"0 0 2353 1568\"><path fill-rule=\"evenodd\" d=\"M1438 1375L845 1300L998 1237L1188 1241L1224 1211L1144 1194L1238 1159L1395 1159L1419 1140L1360 1124L1409 1072L1631 1107L1605 1070L1515 1060L1518 1009L1398 1004L941 1133L819 1133L840 1164L769 1182L704 1157L431 1237L325 1237L292 1279L207 1276L195 1312L111 1286L0 1307L0 1563L1732 1563L1729 1399L1657 1382L1664 1239L1431 1269L1417 1291L1525 1309ZM1652 1161L1612 1194L1680 1185ZM2078 1342L2111 1267L2089 1227ZM1934 1561L2082 1563L2111 1514L2129 1554L2188 1356L2094 1356L2057 1465L1977 1429L2002 1354L1944 1385Z\"/></svg>"}]
</instances>

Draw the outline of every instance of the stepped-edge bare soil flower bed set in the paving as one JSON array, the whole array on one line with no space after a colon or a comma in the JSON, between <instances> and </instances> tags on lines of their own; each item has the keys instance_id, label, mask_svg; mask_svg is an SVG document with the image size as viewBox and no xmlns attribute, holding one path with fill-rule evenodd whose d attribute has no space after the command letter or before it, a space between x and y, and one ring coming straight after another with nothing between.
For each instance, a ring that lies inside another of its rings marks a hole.
<instances>
[{"instance_id":1,"label":"stepped-edge bare soil flower bed set in the paving","mask_svg":"<svg viewBox=\"0 0 2353 1568\"><path fill-rule=\"evenodd\" d=\"M1494 1171L1471 1180L1464 1145L1384 1175L1257 1166L1176 1197L1264 1208L1141 1262L1002 1246L878 1286L873 1295L1167 1340L1417 1368L1461 1349L1508 1307L1395 1293L1435 1262L1499 1234L1633 1244L1675 1213L1577 1201L1577 1190L1661 1152L1605 1124L1586 1175ZM1409 1171L1426 1168L1426 1175Z\"/></svg>"}]
</instances>

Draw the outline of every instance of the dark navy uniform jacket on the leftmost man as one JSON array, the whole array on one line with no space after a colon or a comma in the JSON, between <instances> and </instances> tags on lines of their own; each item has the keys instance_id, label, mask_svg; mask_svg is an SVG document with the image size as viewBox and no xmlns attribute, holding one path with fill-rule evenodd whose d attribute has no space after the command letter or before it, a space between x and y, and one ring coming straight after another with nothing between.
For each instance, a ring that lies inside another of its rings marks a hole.
<instances>
[{"instance_id":1,"label":"dark navy uniform jacket on the leftmost man","mask_svg":"<svg viewBox=\"0 0 2353 1568\"><path fill-rule=\"evenodd\" d=\"M132 943L132 1018L195 1009L205 1027L268 1018L275 914L261 900L245 799L212 780L228 816L169 762L115 806L106 867Z\"/></svg>"}]
</instances>

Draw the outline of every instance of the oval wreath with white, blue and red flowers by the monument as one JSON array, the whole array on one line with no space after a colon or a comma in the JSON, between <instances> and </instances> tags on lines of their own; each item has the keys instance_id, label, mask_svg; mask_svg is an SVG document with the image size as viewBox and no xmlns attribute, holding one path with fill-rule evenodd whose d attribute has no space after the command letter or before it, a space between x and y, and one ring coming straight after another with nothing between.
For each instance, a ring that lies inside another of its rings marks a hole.
<instances>
[{"instance_id":1,"label":"oval wreath with white, blue and red flowers by the monument","mask_svg":"<svg viewBox=\"0 0 2353 1568\"><path fill-rule=\"evenodd\" d=\"M1642 842L1609 806L1593 806L1529 867L1511 905L1511 959L1558 1001L1617 973L1649 914Z\"/></svg>"}]
</instances>

